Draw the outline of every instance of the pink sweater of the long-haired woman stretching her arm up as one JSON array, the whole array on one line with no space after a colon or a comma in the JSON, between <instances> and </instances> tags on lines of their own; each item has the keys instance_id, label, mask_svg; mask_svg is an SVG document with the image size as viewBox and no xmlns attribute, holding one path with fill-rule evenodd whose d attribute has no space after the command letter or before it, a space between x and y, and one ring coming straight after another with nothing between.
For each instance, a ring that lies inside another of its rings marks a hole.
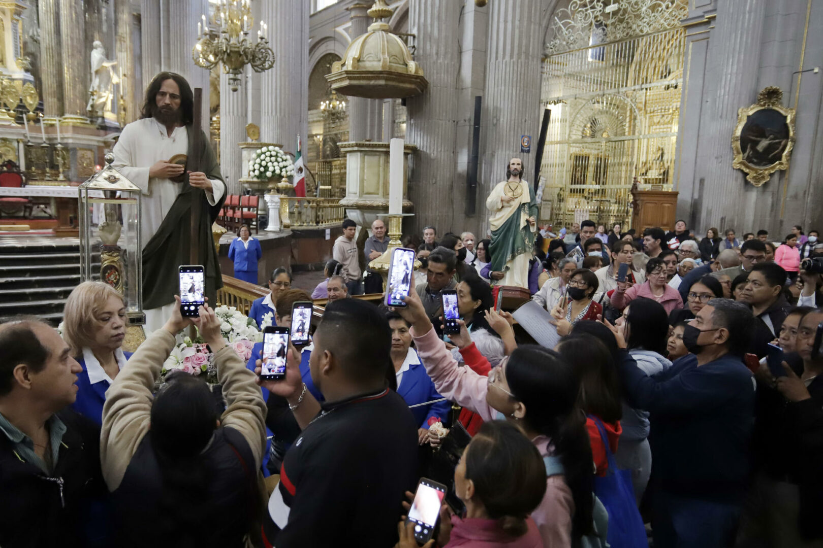
<instances>
[{"instance_id":1,"label":"pink sweater of the long-haired woman stretching her arm up","mask_svg":"<svg viewBox=\"0 0 823 548\"><path fill-rule=\"evenodd\" d=\"M675 291L677 292L677 291ZM412 328L417 348L425 372L435 383L435 388L444 398L449 398L458 405L476 412L484 421L497 418L497 411L486 403L488 377L478 375L468 367L458 366L445 343L437 337L435 329L428 333L417 334ZM538 435L532 440L542 457L551 456L551 440L545 435ZM571 517L574 514L574 500L571 490L562 475L546 477L546 495L540 506L532 512L532 519L537 523L544 546L566 548L571 546ZM473 545L472 545L473 546ZM521 546L521 545L512 545ZM525 546L525 545L523 545Z\"/></svg>"}]
</instances>

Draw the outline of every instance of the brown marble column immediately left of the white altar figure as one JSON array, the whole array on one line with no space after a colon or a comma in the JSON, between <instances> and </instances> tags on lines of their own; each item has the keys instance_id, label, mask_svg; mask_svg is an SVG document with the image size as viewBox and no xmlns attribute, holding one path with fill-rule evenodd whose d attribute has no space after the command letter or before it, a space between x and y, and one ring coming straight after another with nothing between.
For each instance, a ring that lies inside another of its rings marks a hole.
<instances>
[{"instance_id":1,"label":"brown marble column immediately left of the white altar figure","mask_svg":"<svg viewBox=\"0 0 823 548\"><path fill-rule=\"evenodd\" d=\"M83 2L60 2L60 59L63 62L63 113L86 119L91 67L86 44Z\"/></svg>"}]
</instances>

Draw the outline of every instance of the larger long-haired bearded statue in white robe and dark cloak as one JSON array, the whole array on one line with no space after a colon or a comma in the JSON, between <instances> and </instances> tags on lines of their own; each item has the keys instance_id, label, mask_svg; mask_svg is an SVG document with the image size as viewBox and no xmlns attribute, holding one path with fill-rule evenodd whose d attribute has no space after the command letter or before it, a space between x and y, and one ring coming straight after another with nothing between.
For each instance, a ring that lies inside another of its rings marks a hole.
<instances>
[{"instance_id":1,"label":"larger long-haired bearded statue in white robe and dark cloak","mask_svg":"<svg viewBox=\"0 0 823 548\"><path fill-rule=\"evenodd\" d=\"M146 103L137 122L123 127L114 145L114 167L142 189L143 309L146 331L160 329L179 292L178 267L190 262L191 246L198 248L198 264L206 274L206 295L212 305L223 286L212 223L226 185L205 134L201 150L192 150L194 99L183 76L160 72L146 90ZM185 154L199 158L198 171L176 163ZM170 163L178 155L175 163ZM202 200L196 242L191 242L192 193Z\"/></svg>"}]
</instances>

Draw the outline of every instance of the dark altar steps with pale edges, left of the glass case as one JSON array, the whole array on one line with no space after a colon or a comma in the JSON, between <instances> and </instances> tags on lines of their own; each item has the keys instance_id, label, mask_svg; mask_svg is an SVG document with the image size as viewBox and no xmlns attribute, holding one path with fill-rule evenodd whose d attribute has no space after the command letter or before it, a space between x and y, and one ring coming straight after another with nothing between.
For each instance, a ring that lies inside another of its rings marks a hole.
<instances>
[{"instance_id":1,"label":"dark altar steps with pale edges, left of the glass case","mask_svg":"<svg viewBox=\"0 0 823 548\"><path fill-rule=\"evenodd\" d=\"M56 326L63 320L68 294L80 283L76 239L36 240L0 246L0 321L33 315ZM92 269L99 272L100 265Z\"/></svg>"}]
</instances>

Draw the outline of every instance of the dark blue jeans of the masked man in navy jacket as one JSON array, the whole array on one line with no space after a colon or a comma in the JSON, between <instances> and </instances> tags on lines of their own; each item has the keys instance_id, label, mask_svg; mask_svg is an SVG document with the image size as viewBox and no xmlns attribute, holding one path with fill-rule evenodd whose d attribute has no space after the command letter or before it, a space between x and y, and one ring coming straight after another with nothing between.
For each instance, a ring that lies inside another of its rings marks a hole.
<instances>
[{"instance_id":1,"label":"dark blue jeans of the masked man in navy jacket","mask_svg":"<svg viewBox=\"0 0 823 548\"><path fill-rule=\"evenodd\" d=\"M656 491L652 514L654 548L733 546L740 511L740 504Z\"/></svg>"}]
</instances>

